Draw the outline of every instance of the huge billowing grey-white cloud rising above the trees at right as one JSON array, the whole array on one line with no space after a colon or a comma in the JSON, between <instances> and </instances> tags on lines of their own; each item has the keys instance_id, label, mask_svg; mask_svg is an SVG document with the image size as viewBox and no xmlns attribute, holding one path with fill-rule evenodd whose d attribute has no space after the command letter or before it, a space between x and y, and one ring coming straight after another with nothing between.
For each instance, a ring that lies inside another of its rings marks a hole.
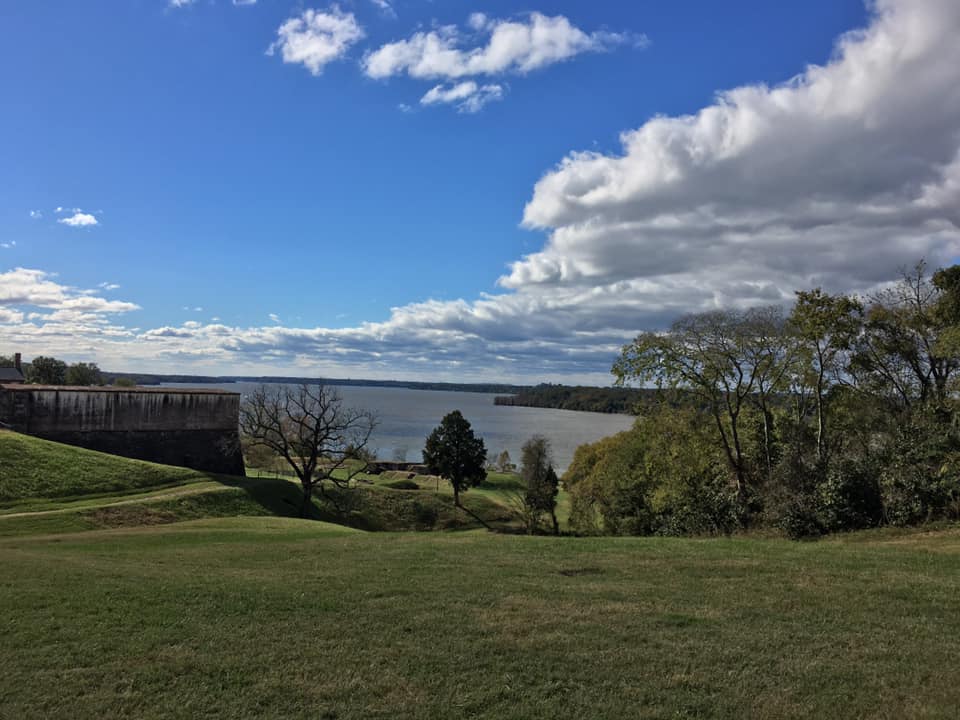
<instances>
[{"instance_id":1,"label":"huge billowing grey-white cloud rising above the trees at right","mask_svg":"<svg viewBox=\"0 0 960 720\"><path fill-rule=\"evenodd\" d=\"M575 152L536 185L549 233L502 287L619 288L632 322L863 290L960 254L960 4L878 0L870 26L781 85L718 95Z\"/></svg>"}]
</instances>

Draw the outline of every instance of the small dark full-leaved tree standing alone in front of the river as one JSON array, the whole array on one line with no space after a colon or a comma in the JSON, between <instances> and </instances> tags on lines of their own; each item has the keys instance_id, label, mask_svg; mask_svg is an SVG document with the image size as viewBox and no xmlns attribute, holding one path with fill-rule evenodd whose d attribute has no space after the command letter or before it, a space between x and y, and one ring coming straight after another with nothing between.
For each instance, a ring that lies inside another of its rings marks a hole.
<instances>
[{"instance_id":1,"label":"small dark full-leaved tree standing alone in front of the river","mask_svg":"<svg viewBox=\"0 0 960 720\"><path fill-rule=\"evenodd\" d=\"M459 410L447 414L423 448L423 462L434 475L450 481L453 502L460 507L460 493L483 482L487 449L483 439L473 433Z\"/></svg>"}]
</instances>

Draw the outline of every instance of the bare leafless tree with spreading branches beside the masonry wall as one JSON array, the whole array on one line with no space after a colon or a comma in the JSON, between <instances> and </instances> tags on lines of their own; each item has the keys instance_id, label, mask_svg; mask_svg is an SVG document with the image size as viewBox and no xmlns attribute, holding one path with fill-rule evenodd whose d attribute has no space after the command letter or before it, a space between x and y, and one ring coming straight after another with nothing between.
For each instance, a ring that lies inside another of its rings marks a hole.
<instances>
[{"instance_id":1,"label":"bare leafless tree with spreading branches beside the masonry wall","mask_svg":"<svg viewBox=\"0 0 960 720\"><path fill-rule=\"evenodd\" d=\"M313 491L322 492L324 480L346 486L366 468L376 425L373 413L345 407L340 393L322 384L261 385L240 408L243 441L272 450L300 480L301 517L310 516Z\"/></svg>"}]
</instances>

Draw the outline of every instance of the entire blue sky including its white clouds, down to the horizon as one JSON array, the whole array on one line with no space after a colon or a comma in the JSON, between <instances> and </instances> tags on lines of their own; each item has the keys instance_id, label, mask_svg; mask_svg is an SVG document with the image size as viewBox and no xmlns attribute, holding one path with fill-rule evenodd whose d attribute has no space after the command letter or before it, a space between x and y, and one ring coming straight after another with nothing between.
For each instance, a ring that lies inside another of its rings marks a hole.
<instances>
[{"instance_id":1,"label":"entire blue sky including its white clouds, down to the horizon","mask_svg":"<svg viewBox=\"0 0 960 720\"><path fill-rule=\"evenodd\" d=\"M680 312L867 290L957 254L952 5L4 3L0 352L607 382Z\"/></svg>"}]
</instances>

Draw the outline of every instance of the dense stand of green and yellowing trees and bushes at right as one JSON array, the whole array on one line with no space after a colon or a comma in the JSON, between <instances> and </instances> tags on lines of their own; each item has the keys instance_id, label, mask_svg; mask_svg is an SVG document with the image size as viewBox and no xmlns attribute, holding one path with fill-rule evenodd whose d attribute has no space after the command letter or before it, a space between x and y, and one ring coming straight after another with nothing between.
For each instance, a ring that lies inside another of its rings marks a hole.
<instances>
[{"instance_id":1,"label":"dense stand of green and yellowing trees and bushes at right","mask_svg":"<svg viewBox=\"0 0 960 720\"><path fill-rule=\"evenodd\" d=\"M578 451L571 521L684 533L736 518L798 538L958 517L958 371L960 266L930 278L920 263L865 300L799 292L786 319L681 318L614 364L620 383L677 394L632 433ZM679 456L658 446L668 436Z\"/></svg>"}]
</instances>

